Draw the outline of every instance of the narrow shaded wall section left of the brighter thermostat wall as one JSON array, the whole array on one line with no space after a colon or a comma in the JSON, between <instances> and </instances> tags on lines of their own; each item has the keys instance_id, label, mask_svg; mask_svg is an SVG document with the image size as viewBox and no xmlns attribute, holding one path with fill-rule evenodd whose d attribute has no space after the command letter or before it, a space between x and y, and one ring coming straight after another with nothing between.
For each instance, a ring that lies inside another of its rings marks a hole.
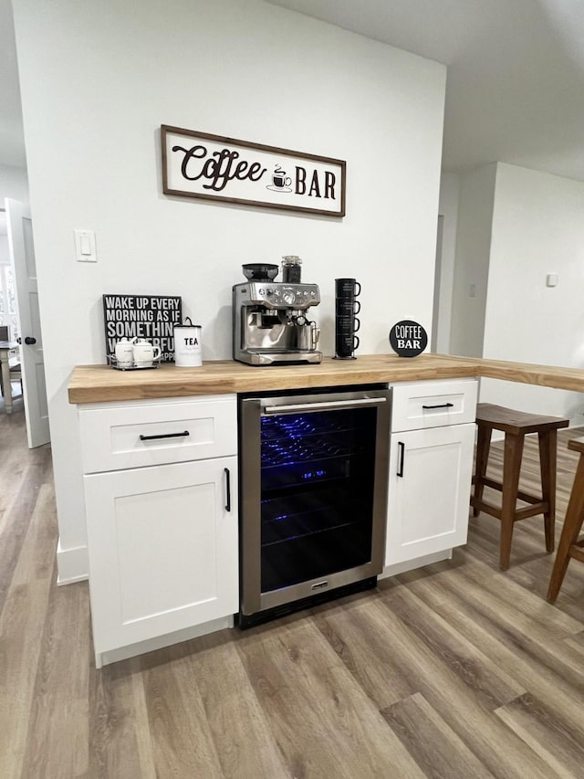
<instances>
[{"instance_id":1,"label":"narrow shaded wall section left of the brighter thermostat wall","mask_svg":"<svg viewBox=\"0 0 584 779\"><path fill-rule=\"evenodd\" d=\"M496 163L460 177L450 353L483 354ZM471 295L474 286L474 296Z\"/></svg>"}]
</instances>

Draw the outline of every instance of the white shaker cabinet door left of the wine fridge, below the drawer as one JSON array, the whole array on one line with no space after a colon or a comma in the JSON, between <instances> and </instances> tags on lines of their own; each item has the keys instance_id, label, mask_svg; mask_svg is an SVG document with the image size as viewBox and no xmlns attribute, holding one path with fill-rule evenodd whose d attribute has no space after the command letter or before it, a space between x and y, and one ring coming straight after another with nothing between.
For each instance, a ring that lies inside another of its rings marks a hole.
<instances>
[{"instance_id":1,"label":"white shaker cabinet door left of the wine fridge, below the drawer","mask_svg":"<svg viewBox=\"0 0 584 779\"><path fill-rule=\"evenodd\" d=\"M84 479L96 652L237 611L237 458Z\"/></svg>"}]
</instances>

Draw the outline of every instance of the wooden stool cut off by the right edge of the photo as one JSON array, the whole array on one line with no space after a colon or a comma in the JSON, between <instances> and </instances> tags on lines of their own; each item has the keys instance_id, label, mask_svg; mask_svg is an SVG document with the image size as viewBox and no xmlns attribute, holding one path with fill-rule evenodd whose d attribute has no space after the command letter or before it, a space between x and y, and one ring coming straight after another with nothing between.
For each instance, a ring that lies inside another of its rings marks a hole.
<instances>
[{"instance_id":1,"label":"wooden stool cut off by the right edge of the photo","mask_svg":"<svg viewBox=\"0 0 584 779\"><path fill-rule=\"evenodd\" d=\"M584 538L578 541L582 521L584 520L584 438L574 438L568 441L568 449L580 453L574 484L569 496L566 519L559 537L556 562L551 572L547 600L554 603L558 597L559 588L564 581L570 557L575 557L584 563Z\"/></svg>"}]
</instances>

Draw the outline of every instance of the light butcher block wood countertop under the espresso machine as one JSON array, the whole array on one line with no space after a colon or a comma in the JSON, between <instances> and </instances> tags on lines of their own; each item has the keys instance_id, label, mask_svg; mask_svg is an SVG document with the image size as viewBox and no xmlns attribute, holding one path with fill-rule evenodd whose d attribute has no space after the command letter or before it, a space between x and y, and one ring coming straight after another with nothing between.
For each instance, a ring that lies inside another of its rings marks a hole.
<instances>
[{"instance_id":1,"label":"light butcher block wood countertop under the espresso machine","mask_svg":"<svg viewBox=\"0 0 584 779\"><path fill-rule=\"evenodd\" d=\"M116 371L108 365L78 365L71 374L68 398L69 403L75 404L106 403L467 376L584 392L584 370L579 368L428 353L412 358L365 354L346 361L325 357L318 365L271 367L244 365L233 360L203 363L199 368L162 364L155 370L141 371Z\"/></svg>"}]
</instances>

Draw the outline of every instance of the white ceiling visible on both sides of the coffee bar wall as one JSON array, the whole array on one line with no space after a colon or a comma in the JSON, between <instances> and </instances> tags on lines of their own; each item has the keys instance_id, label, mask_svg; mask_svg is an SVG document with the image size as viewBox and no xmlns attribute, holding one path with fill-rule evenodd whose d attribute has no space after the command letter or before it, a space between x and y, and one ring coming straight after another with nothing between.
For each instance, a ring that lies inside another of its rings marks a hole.
<instances>
[{"instance_id":1,"label":"white ceiling visible on both sides of the coffee bar wall","mask_svg":"<svg viewBox=\"0 0 584 779\"><path fill-rule=\"evenodd\" d=\"M266 0L448 66L443 167L501 161L584 181L583 0ZM10 0L0 163L26 164Z\"/></svg>"}]
</instances>

